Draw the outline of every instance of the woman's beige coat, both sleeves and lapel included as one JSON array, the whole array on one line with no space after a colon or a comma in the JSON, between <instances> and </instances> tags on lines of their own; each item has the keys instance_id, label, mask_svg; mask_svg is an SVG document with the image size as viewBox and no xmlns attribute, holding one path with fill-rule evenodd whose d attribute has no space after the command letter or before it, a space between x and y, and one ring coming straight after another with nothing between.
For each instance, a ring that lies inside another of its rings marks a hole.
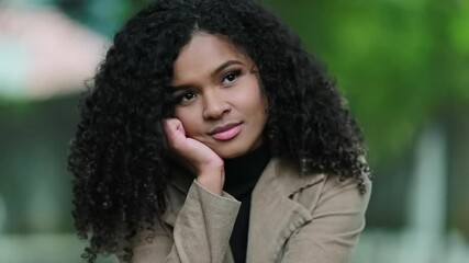
<instances>
[{"instance_id":1,"label":"woman's beige coat, both sleeves and lapel included","mask_svg":"<svg viewBox=\"0 0 469 263\"><path fill-rule=\"evenodd\" d=\"M300 175L291 163L272 159L253 192L246 262L348 262L365 227L371 183L365 184L361 195L354 179ZM150 243L148 232L139 233L133 262L234 262L228 241L239 205L226 193L217 196L193 179L175 176L163 217L169 231L157 227Z\"/></svg>"}]
</instances>

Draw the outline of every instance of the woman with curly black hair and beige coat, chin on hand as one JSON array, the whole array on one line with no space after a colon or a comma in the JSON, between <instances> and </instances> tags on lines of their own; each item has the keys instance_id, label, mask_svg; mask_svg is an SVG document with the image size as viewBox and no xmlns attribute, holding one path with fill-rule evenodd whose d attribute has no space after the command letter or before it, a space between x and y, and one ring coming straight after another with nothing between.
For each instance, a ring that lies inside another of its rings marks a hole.
<instances>
[{"instance_id":1,"label":"woman with curly black hair and beige coat, chin on hand","mask_svg":"<svg viewBox=\"0 0 469 263\"><path fill-rule=\"evenodd\" d=\"M132 18L83 99L69 169L88 262L347 262L370 194L345 100L249 0Z\"/></svg>"}]
</instances>

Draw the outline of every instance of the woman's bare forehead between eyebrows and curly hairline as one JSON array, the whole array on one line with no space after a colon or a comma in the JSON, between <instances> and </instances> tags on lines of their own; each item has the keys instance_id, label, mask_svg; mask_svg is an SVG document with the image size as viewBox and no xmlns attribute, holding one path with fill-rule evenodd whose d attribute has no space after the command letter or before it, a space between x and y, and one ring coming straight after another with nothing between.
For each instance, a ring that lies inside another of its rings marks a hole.
<instances>
[{"instance_id":1,"label":"woman's bare forehead between eyebrows and curly hairline","mask_svg":"<svg viewBox=\"0 0 469 263\"><path fill-rule=\"evenodd\" d=\"M181 48L174 64L172 82L210 76L220 65L237 60L247 66L249 59L232 42L221 35L197 33Z\"/></svg>"}]
</instances>

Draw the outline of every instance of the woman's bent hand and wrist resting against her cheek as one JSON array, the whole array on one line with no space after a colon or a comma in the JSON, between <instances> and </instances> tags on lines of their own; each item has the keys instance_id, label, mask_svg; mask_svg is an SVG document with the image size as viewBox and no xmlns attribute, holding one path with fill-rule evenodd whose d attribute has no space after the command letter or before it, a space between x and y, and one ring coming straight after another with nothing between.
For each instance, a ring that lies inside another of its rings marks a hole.
<instances>
[{"instance_id":1,"label":"woman's bent hand and wrist resting against her cheek","mask_svg":"<svg viewBox=\"0 0 469 263\"><path fill-rule=\"evenodd\" d=\"M221 195L225 181L223 159L204 144L186 137L182 123L177 118L163 121L169 149L183 165L197 174L197 181L210 192Z\"/></svg>"}]
</instances>

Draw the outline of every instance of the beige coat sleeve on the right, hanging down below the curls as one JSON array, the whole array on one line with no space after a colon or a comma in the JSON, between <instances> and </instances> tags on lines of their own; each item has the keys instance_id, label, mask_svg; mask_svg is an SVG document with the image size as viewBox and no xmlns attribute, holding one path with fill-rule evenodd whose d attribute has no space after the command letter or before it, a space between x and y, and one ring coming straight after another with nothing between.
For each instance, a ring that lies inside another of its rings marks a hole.
<instances>
[{"instance_id":1,"label":"beige coat sleeve on the right, hanging down below the curls","mask_svg":"<svg viewBox=\"0 0 469 263\"><path fill-rule=\"evenodd\" d=\"M366 193L358 191L357 181L339 182L327 176L317 193L312 220L299 228L288 240L282 263L346 263L365 228L371 182L365 179Z\"/></svg>"}]
</instances>

